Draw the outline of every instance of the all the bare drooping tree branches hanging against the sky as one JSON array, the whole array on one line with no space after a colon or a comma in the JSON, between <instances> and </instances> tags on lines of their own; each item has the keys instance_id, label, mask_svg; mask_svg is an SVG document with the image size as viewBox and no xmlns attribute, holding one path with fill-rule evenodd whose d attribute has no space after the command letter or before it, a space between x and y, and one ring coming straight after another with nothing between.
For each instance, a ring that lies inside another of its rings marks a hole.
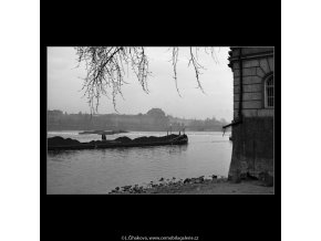
<instances>
[{"instance_id":1,"label":"all the bare drooping tree branches hanging against the sky","mask_svg":"<svg viewBox=\"0 0 321 241\"><path fill-rule=\"evenodd\" d=\"M205 52L208 54L207 48ZM142 88L145 93L148 91L148 76L152 75L149 72L149 62L145 53L144 46L76 46L77 62L85 63L86 76L83 78L84 83L82 91L87 97L87 103L91 108L91 114L96 113L100 98L102 95L110 98L107 91L111 91L114 109L116 109L116 96L120 94L123 98L122 86L127 84L124 81L124 75L128 76L128 69L133 70L135 73ZM168 51L170 48L168 49ZM179 48L172 48L172 64L174 71L175 86L178 95L182 97L177 84L177 62L178 62L178 51ZM189 62L188 66L191 64L196 74L197 87L201 90L199 75L200 70L205 67L198 61L199 48L189 48ZM214 48L210 48L210 53L215 62L217 63L217 56ZM79 66L79 65L77 65ZM126 69L125 69L126 66Z\"/></svg>"}]
</instances>

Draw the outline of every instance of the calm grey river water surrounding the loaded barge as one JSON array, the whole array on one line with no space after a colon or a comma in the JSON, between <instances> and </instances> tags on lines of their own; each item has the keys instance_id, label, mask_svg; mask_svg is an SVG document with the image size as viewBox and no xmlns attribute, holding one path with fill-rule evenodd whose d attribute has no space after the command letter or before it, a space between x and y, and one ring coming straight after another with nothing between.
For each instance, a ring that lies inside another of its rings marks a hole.
<instances>
[{"instance_id":1,"label":"calm grey river water surrounding the loaded barge","mask_svg":"<svg viewBox=\"0 0 321 241\"><path fill-rule=\"evenodd\" d=\"M186 132L188 144L184 146L49 151L46 193L107 193L115 187L146 185L162 177L226 177L232 147L229 134ZM106 138L163 135L132 132L107 135ZM48 132L48 137L53 136L80 142L101 139L99 135L79 135L79 130Z\"/></svg>"}]
</instances>

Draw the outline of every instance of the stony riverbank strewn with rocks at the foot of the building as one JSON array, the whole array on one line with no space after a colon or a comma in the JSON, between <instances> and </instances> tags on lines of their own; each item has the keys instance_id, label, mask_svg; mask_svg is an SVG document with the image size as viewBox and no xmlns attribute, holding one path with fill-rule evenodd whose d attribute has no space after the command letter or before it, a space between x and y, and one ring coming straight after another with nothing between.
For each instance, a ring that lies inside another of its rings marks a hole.
<instances>
[{"instance_id":1,"label":"stony riverbank strewn with rocks at the foot of the building","mask_svg":"<svg viewBox=\"0 0 321 241\"><path fill-rule=\"evenodd\" d=\"M272 195L275 188L256 179L244 179L236 184L227 178L213 176L210 179L186 178L185 180L151 181L147 186L124 186L115 188L110 195Z\"/></svg>"}]
</instances>

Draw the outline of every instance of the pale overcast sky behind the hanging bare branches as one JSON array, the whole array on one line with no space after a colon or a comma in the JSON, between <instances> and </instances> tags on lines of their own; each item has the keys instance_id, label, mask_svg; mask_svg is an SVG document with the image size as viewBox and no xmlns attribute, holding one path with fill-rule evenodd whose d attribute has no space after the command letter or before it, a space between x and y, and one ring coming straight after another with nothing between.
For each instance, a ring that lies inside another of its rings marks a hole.
<instances>
[{"instance_id":1,"label":"pale overcast sky behind the hanging bare branches","mask_svg":"<svg viewBox=\"0 0 321 241\"><path fill-rule=\"evenodd\" d=\"M218 63L200 48L198 60L206 67L201 70L200 82L205 94L197 88L193 65L188 66L188 49L180 48L177 62L179 97L173 78L173 65L168 48L146 48L149 57L149 94L146 94L133 74L123 85L123 99L116 98L120 114L145 114L153 107L166 114L185 118L232 118L232 72L228 67L229 48L215 48ZM73 48L48 48L48 108L68 113L90 113L84 92L81 91L85 69L76 67ZM112 99L100 101L99 113L115 113Z\"/></svg>"}]
</instances>

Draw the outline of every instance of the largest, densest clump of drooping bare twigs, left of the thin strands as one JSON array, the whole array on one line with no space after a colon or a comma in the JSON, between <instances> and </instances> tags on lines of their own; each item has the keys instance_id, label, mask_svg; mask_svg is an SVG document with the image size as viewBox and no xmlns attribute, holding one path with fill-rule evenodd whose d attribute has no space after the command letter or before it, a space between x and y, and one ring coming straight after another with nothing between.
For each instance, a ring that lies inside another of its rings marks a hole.
<instances>
[{"instance_id":1,"label":"largest, densest clump of drooping bare twigs, left of the thin strands","mask_svg":"<svg viewBox=\"0 0 321 241\"><path fill-rule=\"evenodd\" d=\"M102 95L108 97L106 90L112 91L114 109L117 112L116 96L117 94L123 96L122 85L126 84L124 64L127 65L127 70L128 65L132 66L143 91L148 93L148 61L143 46L77 46L75 49L79 63L84 61L87 71L82 90L87 96L91 113L97 112Z\"/></svg>"}]
</instances>

